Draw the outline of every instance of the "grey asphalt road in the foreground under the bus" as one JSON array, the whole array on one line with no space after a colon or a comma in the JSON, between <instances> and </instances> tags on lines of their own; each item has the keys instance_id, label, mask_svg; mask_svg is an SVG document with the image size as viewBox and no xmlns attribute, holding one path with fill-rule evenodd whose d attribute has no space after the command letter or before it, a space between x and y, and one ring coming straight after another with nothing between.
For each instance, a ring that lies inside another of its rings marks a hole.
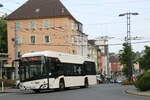
<instances>
[{"instance_id":1,"label":"grey asphalt road in the foreground under the bus","mask_svg":"<svg viewBox=\"0 0 150 100\"><path fill-rule=\"evenodd\" d=\"M42 93L14 91L1 93L0 100L150 100L150 97L126 94L132 86L118 84L100 84L86 89L70 89L66 91L48 91Z\"/></svg>"}]
</instances>

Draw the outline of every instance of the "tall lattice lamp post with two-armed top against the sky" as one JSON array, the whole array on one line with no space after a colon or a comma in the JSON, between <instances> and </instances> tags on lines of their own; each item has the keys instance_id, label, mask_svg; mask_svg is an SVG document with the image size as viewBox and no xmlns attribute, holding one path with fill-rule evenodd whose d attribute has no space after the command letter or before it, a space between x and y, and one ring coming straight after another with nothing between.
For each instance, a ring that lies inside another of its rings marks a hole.
<instances>
[{"instance_id":1,"label":"tall lattice lamp post with two-armed top against the sky","mask_svg":"<svg viewBox=\"0 0 150 100\"><path fill-rule=\"evenodd\" d=\"M125 38L125 41L127 43L127 45L130 47L130 56L129 56L129 61L128 61L128 67L129 67L129 80L132 80L132 74L133 74L133 69L132 69L132 46L131 46L131 15L139 15L139 13L135 12L135 13L123 13L123 14L119 14L119 17L122 16L127 16L127 36Z\"/></svg>"}]
</instances>

